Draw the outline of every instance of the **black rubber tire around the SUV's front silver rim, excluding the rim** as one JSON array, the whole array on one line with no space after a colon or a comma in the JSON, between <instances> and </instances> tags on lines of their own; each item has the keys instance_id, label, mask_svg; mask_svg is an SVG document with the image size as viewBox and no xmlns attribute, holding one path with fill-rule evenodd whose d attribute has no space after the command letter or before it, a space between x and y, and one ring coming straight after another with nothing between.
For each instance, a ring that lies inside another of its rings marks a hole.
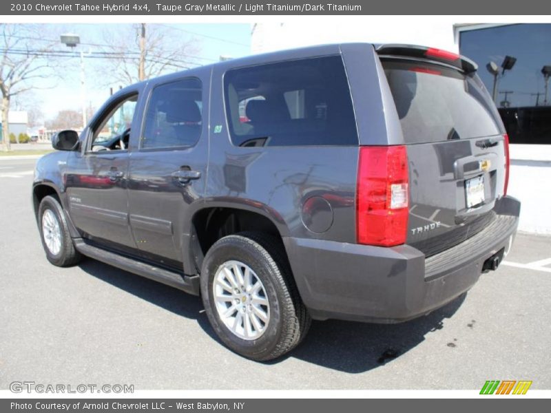
<instances>
[{"instance_id":1,"label":"black rubber tire around the SUV's front silver rim, excluding the rim","mask_svg":"<svg viewBox=\"0 0 551 413\"><path fill-rule=\"evenodd\" d=\"M52 253L45 242L42 222L43 216L47 211L51 211L54 214L54 217L59 224L59 232L61 234L61 248L59 248L59 252L57 253ZM61 207L61 204L59 204L59 201L51 195L45 196L40 202L38 224L42 246L46 253L46 258L48 258L49 262L51 262L55 266L65 267L75 265L79 261L81 261L82 255L74 248L63 208Z\"/></svg>"}]
</instances>

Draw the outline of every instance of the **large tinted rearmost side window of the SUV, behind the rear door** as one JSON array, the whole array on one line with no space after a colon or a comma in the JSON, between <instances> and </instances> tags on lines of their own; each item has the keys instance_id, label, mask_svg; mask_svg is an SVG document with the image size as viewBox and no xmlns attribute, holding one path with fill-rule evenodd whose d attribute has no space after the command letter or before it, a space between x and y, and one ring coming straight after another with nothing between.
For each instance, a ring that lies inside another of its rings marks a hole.
<instances>
[{"instance_id":1,"label":"large tinted rearmost side window of the SUV, behind the rear door","mask_svg":"<svg viewBox=\"0 0 551 413\"><path fill-rule=\"evenodd\" d=\"M224 85L233 145L357 145L340 56L230 70Z\"/></svg>"}]
</instances>

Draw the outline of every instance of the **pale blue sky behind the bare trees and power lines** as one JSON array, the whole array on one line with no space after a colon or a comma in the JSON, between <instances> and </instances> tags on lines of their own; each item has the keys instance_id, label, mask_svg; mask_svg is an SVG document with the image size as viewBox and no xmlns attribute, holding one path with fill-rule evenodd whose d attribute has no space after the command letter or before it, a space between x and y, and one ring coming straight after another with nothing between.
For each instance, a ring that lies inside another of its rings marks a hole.
<instances>
[{"instance_id":1,"label":"pale blue sky behind the bare trees and power lines","mask_svg":"<svg viewBox=\"0 0 551 413\"><path fill-rule=\"evenodd\" d=\"M179 41L193 43L196 52L189 56L189 61L196 65L218 61L220 56L233 58L247 56L251 52L251 25L235 24L148 24L147 30L161 30L165 34L163 42L176 44ZM76 51L100 52L106 50L106 36L116 37L119 34L133 36L136 24L48 24L43 25L44 39L59 39L60 34L74 33L81 39ZM42 41L33 41L31 47L40 47ZM67 50L61 42L56 50ZM34 81L37 89L17 98L12 109L39 107L44 118L52 118L61 109L79 110L82 107L80 59L63 57L56 62L58 76ZM170 67L168 72L177 72L177 67ZM110 87L118 88L118 83L110 81L110 67L103 59L85 59L86 101L87 105L98 108L109 97Z\"/></svg>"}]
</instances>

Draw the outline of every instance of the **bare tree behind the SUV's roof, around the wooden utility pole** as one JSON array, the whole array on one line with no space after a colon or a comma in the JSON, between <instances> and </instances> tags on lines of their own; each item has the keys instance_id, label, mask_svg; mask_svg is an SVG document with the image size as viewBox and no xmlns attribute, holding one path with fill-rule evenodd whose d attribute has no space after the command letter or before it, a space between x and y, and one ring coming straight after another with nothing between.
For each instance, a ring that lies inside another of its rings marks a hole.
<instances>
[{"instance_id":1,"label":"bare tree behind the SUV's roof, around the wooden utility pole","mask_svg":"<svg viewBox=\"0 0 551 413\"><path fill-rule=\"evenodd\" d=\"M122 85L183 70L194 65L189 56L200 51L199 42L175 36L162 25L132 25L132 30L116 30L105 34L108 52L112 53L113 80Z\"/></svg>"}]
</instances>

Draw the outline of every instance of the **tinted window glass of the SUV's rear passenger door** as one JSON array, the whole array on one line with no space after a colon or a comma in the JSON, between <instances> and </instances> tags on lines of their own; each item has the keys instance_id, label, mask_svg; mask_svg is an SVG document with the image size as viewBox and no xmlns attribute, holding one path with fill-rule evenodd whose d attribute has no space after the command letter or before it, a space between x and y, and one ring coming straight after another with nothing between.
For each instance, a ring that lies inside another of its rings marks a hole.
<instances>
[{"instance_id":1,"label":"tinted window glass of the SUV's rear passenger door","mask_svg":"<svg viewBox=\"0 0 551 413\"><path fill-rule=\"evenodd\" d=\"M141 147L192 147L202 129L202 87L198 78L153 89L145 114Z\"/></svg>"}]
</instances>

